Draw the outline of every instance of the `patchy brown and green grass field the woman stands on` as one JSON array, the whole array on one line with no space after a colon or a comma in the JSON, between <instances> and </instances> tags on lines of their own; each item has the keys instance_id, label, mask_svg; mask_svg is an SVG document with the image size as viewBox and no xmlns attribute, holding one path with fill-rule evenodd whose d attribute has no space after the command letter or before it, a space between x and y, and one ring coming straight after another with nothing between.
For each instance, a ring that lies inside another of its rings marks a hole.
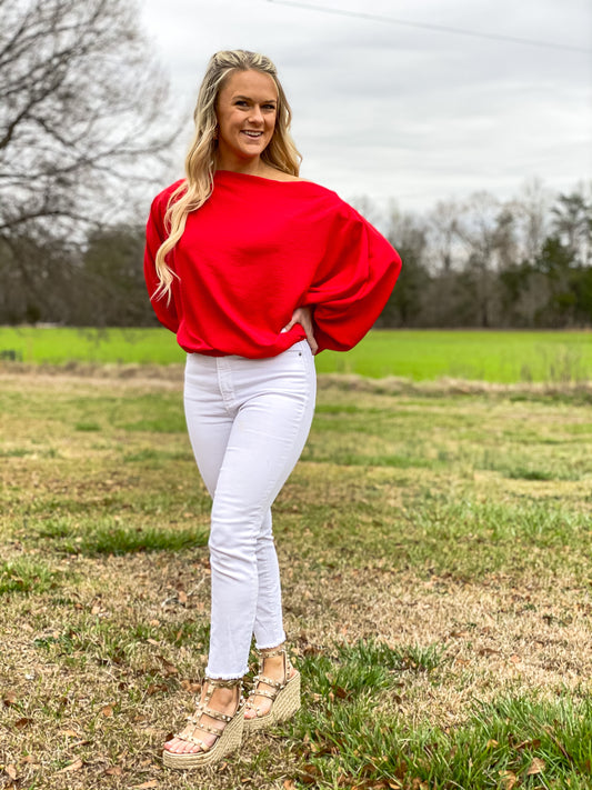
<instances>
[{"instance_id":1,"label":"patchy brown and green grass field the woman stands on","mask_svg":"<svg viewBox=\"0 0 592 790\"><path fill-rule=\"evenodd\" d=\"M209 500L180 378L0 370L0 787L592 787L590 396L320 383L274 516L303 708L183 774Z\"/></svg>"}]
</instances>

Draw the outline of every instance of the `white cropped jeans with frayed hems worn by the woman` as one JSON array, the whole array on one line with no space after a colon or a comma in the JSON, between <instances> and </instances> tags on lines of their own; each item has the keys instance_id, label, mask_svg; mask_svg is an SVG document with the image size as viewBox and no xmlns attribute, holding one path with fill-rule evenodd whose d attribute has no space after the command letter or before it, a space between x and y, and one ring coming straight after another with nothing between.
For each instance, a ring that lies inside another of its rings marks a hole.
<instances>
[{"instance_id":1,"label":"white cropped jeans with frayed hems worn by the woman","mask_svg":"<svg viewBox=\"0 0 592 790\"><path fill-rule=\"evenodd\" d=\"M271 503L307 441L317 379L307 341L267 359L187 358L184 407L198 467L212 497L211 678L241 678L251 638L281 644Z\"/></svg>"}]
</instances>

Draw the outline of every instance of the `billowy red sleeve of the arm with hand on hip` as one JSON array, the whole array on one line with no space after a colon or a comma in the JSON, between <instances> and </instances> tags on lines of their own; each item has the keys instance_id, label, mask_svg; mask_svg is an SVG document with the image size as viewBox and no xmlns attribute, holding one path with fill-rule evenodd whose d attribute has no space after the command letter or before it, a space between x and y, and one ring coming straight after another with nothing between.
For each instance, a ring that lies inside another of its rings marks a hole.
<instances>
[{"instance_id":1,"label":"billowy red sleeve of the arm with hand on hip","mask_svg":"<svg viewBox=\"0 0 592 790\"><path fill-rule=\"evenodd\" d=\"M313 310L319 350L348 351L360 342L387 304L400 271L393 247L343 203L303 302Z\"/></svg>"}]
</instances>

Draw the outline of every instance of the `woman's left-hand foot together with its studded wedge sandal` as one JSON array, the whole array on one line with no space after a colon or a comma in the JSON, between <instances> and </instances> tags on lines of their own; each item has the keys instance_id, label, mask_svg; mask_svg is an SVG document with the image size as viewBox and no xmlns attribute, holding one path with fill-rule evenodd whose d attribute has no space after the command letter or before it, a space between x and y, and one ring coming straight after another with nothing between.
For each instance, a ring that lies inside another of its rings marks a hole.
<instances>
[{"instance_id":1,"label":"woman's left-hand foot together with its studded wedge sandal","mask_svg":"<svg viewBox=\"0 0 592 790\"><path fill-rule=\"evenodd\" d=\"M211 764L240 746L243 729L241 681L205 678L201 699L187 727L164 743L164 764Z\"/></svg>"}]
</instances>

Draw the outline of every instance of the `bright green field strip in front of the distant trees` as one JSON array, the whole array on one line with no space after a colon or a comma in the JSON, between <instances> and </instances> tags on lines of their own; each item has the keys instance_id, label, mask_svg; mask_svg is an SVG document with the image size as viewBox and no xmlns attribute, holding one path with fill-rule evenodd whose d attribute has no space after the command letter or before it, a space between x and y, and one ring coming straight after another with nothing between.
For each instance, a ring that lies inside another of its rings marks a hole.
<instances>
[{"instance_id":1,"label":"bright green field strip in front of the distant trees","mask_svg":"<svg viewBox=\"0 0 592 790\"><path fill-rule=\"evenodd\" d=\"M174 364L183 359L165 329L0 328L0 354L27 363ZM321 373L414 381L440 378L580 382L592 378L592 333L373 331L348 353L324 351Z\"/></svg>"}]
</instances>

